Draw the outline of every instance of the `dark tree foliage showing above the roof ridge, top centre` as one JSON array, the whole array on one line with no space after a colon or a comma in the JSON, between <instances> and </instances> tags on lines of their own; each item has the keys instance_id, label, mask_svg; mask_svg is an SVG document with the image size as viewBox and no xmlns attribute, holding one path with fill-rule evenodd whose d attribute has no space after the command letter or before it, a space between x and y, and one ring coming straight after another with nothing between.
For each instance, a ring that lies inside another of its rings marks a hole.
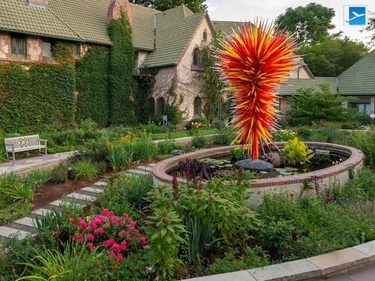
<instances>
[{"instance_id":1,"label":"dark tree foliage showing above the roof ridge, top centre","mask_svg":"<svg viewBox=\"0 0 375 281\"><path fill-rule=\"evenodd\" d=\"M207 8L204 4L205 0L129 0L129 2L159 11L165 11L182 4L187 6L187 8L194 13L203 12Z\"/></svg>"}]
</instances>

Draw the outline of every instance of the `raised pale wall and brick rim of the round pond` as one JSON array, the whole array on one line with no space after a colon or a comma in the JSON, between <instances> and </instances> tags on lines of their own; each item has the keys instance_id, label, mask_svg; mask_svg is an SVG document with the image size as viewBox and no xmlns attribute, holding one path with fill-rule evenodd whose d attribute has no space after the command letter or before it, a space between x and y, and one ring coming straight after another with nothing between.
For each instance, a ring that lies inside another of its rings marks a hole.
<instances>
[{"instance_id":1,"label":"raised pale wall and brick rim of the round pond","mask_svg":"<svg viewBox=\"0 0 375 281\"><path fill-rule=\"evenodd\" d=\"M275 145L279 148L284 147L285 142L277 142ZM285 190L290 193L299 194L304 182L311 182L313 178L322 179L320 185L322 188L328 187L333 183L344 185L350 176L357 174L358 169L362 167L363 153L359 149L341 146L337 144L305 142L309 149L329 150L333 156L346 159L345 161L324 169L278 178L265 178L252 180L251 183L254 192L249 199L251 204L257 204L260 201L262 193L271 190ZM157 163L153 167L154 183L171 183L173 177L168 175L171 171L178 167L179 161L186 159L202 159L202 158L220 158L230 155L230 146L218 147L212 149L204 149L190 152L187 154L175 156ZM277 150L272 146L273 150ZM277 160L276 160L277 161ZM180 182L186 182L186 179L178 178ZM304 194L313 194L312 190L307 190Z\"/></svg>"}]
</instances>

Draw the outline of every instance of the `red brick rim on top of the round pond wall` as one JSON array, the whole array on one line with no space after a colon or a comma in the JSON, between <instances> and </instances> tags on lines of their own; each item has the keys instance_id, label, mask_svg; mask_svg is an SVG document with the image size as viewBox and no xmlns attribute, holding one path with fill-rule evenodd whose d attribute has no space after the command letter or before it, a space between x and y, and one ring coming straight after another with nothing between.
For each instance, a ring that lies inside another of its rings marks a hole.
<instances>
[{"instance_id":1,"label":"red brick rim on top of the round pond wall","mask_svg":"<svg viewBox=\"0 0 375 281\"><path fill-rule=\"evenodd\" d=\"M285 142L277 142L275 143L276 146L282 147L284 146ZM363 161L363 153L359 149L355 149L352 147L341 146L336 144L329 144L329 143L318 143L318 142L306 142L308 146L312 146L314 148L334 148L340 149L343 152L346 152L349 158L337 165L330 166L325 169L308 172L306 174L299 174L299 175L291 175L291 176L284 176L281 178L268 178L268 179L257 179L253 180L254 187L267 187L267 186L275 186L275 185L287 185L287 184L296 184L308 181L311 176L316 176L319 178L327 178L330 176L338 175L342 172L348 171L351 165L355 167L360 167ZM186 159L192 158L203 158L203 157L212 157L212 156L225 156L230 155L230 146L226 147L219 147L213 149L204 149L199 151L190 152L187 154L175 156L172 158L168 158L157 163L153 167L153 176L158 182L171 182L173 177L168 175L167 173L170 171L171 168L175 167L179 161L184 161ZM227 153L225 153L227 152ZM179 181L185 181L183 179L179 179Z\"/></svg>"}]
</instances>

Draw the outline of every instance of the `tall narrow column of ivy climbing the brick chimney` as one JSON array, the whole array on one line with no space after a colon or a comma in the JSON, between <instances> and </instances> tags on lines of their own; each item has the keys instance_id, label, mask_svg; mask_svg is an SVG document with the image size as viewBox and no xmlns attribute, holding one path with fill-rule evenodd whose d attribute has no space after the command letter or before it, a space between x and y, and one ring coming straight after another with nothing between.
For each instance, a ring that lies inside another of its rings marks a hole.
<instances>
[{"instance_id":1,"label":"tall narrow column of ivy climbing the brick chimney","mask_svg":"<svg viewBox=\"0 0 375 281\"><path fill-rule=\"evenodd\" d=\"M109 118L113 125L136 124L133 87L134 48L132 30L125 14L112 19L108 35L113 42L109 51Z\"/></svg>"}]
</instances>

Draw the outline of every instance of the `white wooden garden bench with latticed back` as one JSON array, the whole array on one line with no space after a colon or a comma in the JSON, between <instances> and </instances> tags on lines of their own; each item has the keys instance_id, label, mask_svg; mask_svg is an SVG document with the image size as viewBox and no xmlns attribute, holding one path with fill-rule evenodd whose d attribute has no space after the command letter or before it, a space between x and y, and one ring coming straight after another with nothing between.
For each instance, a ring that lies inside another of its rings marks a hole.
<instances>
[{"instance_id":1,"label":"white wooden garden bench with latticed back","mask_svg":"<svg viewBox=\"0 0 375 281\"><path fill-rule=\"evenodd\" d=\"M4 141L6 158L11 159L11 157L8 157L8 153L12 153L13 161L15 161L15 153L19 151L39 149L40 153L40 149L44 149L47 155L47 140L40 139L38 134L4 138ZM44 142L44 144L41 144L41 142Z\"/></svg>"}]
</instances>

